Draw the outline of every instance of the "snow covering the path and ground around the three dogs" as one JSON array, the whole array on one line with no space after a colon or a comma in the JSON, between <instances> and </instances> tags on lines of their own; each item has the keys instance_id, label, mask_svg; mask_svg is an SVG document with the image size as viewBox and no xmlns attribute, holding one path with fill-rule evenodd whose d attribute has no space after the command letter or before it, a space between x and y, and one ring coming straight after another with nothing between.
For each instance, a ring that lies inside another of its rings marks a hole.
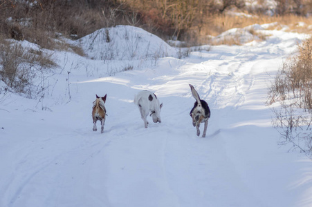
<instances>
[{"instance_id":1,"label":"snow covering the path and ground around the three dogs","mask_svg":"<svg viewBox=\"0 0 312 207\"><path fill-rule=\"evenodd\" d=\"M43 101L1 99L0 206L311 206L312 162L277 145L264 103L283 60L307 35L261 32L266 41L214 46L186 59L163 50L172 57L123 72L126 55L101 60L107 50L97 52L105 42L96 39L93 50L84 45L93 59L55 52L59 69L46 75ZM157 37L145 35L154 47ZM145 49L134 51L151 53ZM192 126L189 83L212 112L206 138ZM147 129L133 103L144 89L163 103L163 122L149 119ZM92 130L95 94L107 94L103 134Z\"/></svg>"}]
</instances>

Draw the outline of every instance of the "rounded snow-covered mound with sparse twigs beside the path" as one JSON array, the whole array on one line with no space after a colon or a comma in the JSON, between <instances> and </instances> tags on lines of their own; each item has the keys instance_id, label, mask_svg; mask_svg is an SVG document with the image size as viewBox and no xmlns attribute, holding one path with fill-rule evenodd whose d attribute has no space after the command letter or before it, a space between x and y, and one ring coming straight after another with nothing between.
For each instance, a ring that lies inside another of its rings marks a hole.
<instances>
[{"instance_id":1,"label":"rounded snow-covered mound with sparse twigs beside the path","mask_svg":"<svg viewBox=\"0 0 312 207\"><path fill-rule=\"evenodd\" d=\"M77 40L91 59L138 60L176 56L176 49L141 28L102 28Z\"/></svg>"}]
</instances>

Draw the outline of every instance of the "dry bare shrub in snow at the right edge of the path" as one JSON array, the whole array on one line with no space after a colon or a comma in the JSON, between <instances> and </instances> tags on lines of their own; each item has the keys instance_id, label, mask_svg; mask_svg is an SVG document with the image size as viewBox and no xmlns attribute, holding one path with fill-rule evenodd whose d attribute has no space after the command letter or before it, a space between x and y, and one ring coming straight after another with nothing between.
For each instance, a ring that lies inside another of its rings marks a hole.
<instances>
[{"instance_id":1,"label":"dry bare shrub in snow at the right edge of the path","mask_svg":"<svg viewBox=\"0 0 312 207\"><path fill-rule=\"evenodd\" d=\"M312 44L304 41L299 55L288 59L268 90L267 104L273 105L275 126L283 144L291 142L312 156Z\"/></svg>"}]
</instances>

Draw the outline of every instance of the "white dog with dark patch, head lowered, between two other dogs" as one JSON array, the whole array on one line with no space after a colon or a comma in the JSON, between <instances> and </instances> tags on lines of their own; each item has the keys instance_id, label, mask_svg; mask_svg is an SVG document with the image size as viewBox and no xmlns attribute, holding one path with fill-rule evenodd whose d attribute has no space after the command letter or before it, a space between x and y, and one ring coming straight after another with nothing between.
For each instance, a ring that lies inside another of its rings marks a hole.
<instances>
[{"instance_id":1,"label":"white dog with dark patch, head lowered, between two other dogs","mask_svg":"<svg viewBox=\"0 0 312 207\"><path fill-rule=\"evenodd\" d=\"M134 97L134 104L136 104L140 110L145 128L147 128L147 125L149 124L147 121L149 112L151 112L149 116L153 118L154 123L161 122L160 109L163 107L163 103L159 104L159 100L154 93L148 90L138 92Z\"/></svg>"}]
</instances>

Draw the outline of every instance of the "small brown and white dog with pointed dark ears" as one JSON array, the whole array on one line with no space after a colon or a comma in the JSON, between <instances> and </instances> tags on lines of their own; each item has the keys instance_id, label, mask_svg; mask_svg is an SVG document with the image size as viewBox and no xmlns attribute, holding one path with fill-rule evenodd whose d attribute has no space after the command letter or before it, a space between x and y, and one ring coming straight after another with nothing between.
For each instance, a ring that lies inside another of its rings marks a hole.
<instances>
[{"instance_id":1,"label":"small brown and white dog with pointed dark ears","mask_svg":"<svg viewBox=\"0 0 312 207\"><path fill-rule=\"evenodd\" d=\"M104 123L105 123L105 117L106 114L106 108L104 106L104 103L106 102L107 95L104 95L104 97L98 97L96 95L95 101L93 101L93 110L92 110L92 119L93 119L93 131L98 130L96 128L96 121L101 121L101 133L104 130Z\"/></svg>"}]
</instances>

